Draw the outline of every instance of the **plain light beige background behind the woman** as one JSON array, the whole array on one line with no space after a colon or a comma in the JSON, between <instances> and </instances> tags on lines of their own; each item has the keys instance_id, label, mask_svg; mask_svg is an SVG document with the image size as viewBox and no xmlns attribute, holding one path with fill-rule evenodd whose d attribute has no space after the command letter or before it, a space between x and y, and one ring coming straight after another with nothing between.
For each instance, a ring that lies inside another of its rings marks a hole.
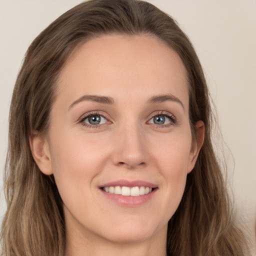
<instances>
[{"instance_id":1,"label":"plain light beige background behind the woman","mask_svg":"<svg viewBox=\"0 0 256 256\"><path fill-rule=\"evenodd\" d=\"M178 21L198 53L218 112L237 221L248 227L255 242L256 0L149 1ZM0 187L9 102L25 50L43 28L79 2L0 0ZM218 138L215 147L222 158ZM4 210L1 190L0 217Z\"/></svg>"}]
</instances>

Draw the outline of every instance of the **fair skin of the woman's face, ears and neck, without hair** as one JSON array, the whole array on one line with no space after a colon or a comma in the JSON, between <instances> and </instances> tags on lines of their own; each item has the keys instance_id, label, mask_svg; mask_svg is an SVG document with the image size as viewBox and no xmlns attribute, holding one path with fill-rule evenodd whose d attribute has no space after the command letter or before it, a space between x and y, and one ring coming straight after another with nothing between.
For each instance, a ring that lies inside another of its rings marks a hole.
<instances>
[{"instance_id":1,"label":"fair skin of the woman's face, ears and neck, without hair","mask_svg":"<svg viewBox=\"0 0 256 256\"><path fill-rule=\"evenodd\" d=\"M201 121L192 139L188 86L177 53L153 36L104 35L69 56L49 129L30 136L63 200L66 256L166 255L203 141Z\"/></svg>"}]
</instances>

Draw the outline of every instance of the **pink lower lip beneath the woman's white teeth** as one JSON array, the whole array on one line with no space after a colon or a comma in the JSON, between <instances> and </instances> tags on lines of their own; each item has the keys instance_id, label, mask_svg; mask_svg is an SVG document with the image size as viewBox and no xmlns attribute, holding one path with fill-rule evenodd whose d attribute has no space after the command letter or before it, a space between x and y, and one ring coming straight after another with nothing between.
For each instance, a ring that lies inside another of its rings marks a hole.
<instances>
[{"instance_id":1,"label":"pink lower lip beneath the woman's white teeth","mask_svg":"<svg viewBox=\"0 0 256 256\"><path fill-rule=\"evenodd\" d=\"M102 189L100 190L108 199L114 201L118 205L122 205L126 207L135 207L150 201L154 196L155 192L157 191L157 188L154 188L148 194L137 195L137 196L125 196L121 194L109 193Z\"/></svg>"}]
</instances>

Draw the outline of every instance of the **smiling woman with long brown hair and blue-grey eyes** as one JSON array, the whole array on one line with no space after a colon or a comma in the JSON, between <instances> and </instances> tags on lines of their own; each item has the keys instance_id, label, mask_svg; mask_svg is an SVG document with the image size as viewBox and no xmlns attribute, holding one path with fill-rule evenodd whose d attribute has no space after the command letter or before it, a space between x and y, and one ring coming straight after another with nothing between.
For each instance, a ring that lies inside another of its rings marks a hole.
<instances>
[{"instance_id":1,"label":"smiling woman with long brown hair and blue-grey eyes","mask_svg":"<svg viewBox=\"0 0 256 256\"><path fill-rule=\"evenodd\" d=\"M70 9L13 91L3 255L245 255L210 140L207 86L171 17Z\"/></svg>"}]
</instances>

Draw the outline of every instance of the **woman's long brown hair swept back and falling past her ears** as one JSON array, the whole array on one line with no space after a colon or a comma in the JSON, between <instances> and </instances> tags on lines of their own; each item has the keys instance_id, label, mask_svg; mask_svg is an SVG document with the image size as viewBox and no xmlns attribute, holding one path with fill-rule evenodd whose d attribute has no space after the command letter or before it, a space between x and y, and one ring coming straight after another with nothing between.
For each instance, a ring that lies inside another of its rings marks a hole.
<instances>
[{"instance_id":1,"label":"woman's long brown hair swept back and falling past her ears","mask_svg":"<svg viewBox=\"0 0 256 256\"><path fill-rule=\"evenodd\" d=\"M184 195L168 223L167 254L172 256L245 255L245 241L234 225L226 188L211 143L212 114L197 55L176 22L145 1L90 0L68 10L29 46L13 90L9 145L5 166L7 211L2 229L2 254L64 254L62 201L54 177L35 164L29 133L45 132L66 58L80 42L102 34L152 34L182 59L189 80L189 116L205 125L204 144L187 175Z\"/></svg>"}]
</instances>

